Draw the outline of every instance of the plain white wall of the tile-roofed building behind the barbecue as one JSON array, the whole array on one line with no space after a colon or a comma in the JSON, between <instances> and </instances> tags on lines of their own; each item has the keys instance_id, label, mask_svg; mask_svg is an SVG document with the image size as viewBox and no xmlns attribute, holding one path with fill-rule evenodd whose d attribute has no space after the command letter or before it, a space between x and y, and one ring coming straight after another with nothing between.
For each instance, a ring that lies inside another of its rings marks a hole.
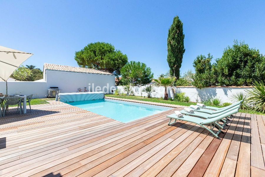
<instances>
[{"instance_id":1,"label":"plain white wall of the tile-roofed building behind the barbecue","mask_svg":"<svg viewBox=\"0 0 265 177\"><path fill-rule=\"evenodd\" d=\"M49 87L59 87L60 93L76 92L78 88L90 91L94 84L94 91L103 91L111 93L110 90L115 88L115 76L105 74L75 73L67 71L46 70L46 89ZM98 88L98 89L97 89ZM103 90L102 90L103 89ZM92 90L93 91L93 90Z\"/></svg>"}]
</instances>

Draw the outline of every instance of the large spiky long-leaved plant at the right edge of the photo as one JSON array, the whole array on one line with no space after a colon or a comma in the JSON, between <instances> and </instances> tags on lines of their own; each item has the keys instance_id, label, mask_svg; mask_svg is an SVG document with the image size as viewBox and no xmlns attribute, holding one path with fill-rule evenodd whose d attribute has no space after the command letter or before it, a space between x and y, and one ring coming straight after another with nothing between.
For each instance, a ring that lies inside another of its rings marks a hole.
<instances>
[{"instance_id":1,"label":"large spiky long-leaved plant at the right edge of the photo","mask_svg":"<svg viewBox=\"0 0 265 177\"><path fill-rule=\"evenodd\" d=\"M265 113L265 85L263 81L255 81L253 88L246 90L248 98L246 102L253 105L256 111Z\"/></svg>"}]
</instances>

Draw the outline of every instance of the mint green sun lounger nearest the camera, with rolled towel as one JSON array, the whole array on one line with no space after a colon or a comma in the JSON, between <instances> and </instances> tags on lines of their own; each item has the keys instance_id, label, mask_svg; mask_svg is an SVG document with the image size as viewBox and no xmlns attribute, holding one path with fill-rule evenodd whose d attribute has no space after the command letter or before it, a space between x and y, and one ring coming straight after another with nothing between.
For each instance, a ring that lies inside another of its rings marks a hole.
<instances>
[{"instance_id":1,"label":"mint green sun lounger nearest the camera, with rolled towel","mask_svg":"<svg viewBox=\"0 0 265 177\"><path fill-rule=\"evenodd\" d=\"M206 130L208 130L209 132L211 132L211 134L213 134L216 138L221 139L220 137L218 137L218 134L222 131L221 128L223 128L222 126L219 127L220 125L218 124L218 122L223 119L226 118L232 114L235 114L238 112L238 109L234 109L232 111L229 111L227 113L224 113L220 116L217 117L213 117L210 119L202 119L199 117L193 117L193 116L187 116L187 115L183 115L182 118L178 117L176 114L170 114L167 117L170 118L168 125L172 125L174 124L177 120L183 120L183 121L187 121L187 122L192 122L195 123L197 125L200 125L201 127L205 128ZM175 119L175 121L173 123L170 123L172 119ZM206 127L205 125L210 124L210 129L208 127ZM218 131L216 133L214 133L212 130L214 127L218 127Z\"/></svg>"}]
</instances>

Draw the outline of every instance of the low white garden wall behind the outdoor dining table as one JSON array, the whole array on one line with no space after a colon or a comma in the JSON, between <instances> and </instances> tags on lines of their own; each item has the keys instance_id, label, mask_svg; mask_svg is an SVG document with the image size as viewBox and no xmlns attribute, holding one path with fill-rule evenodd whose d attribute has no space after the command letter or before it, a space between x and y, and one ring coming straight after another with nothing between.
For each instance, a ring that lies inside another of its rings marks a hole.
<instances>
[{"instance_id":1,"label":"low white garden wall behind the outdoor dining table","mask_svg":"<svg viewBox=\"0 0 265 177\"><path fill-rule=\"evenodd\" d=\"M0 92L6 94L6 82L0 82ZM47 97L46 82L7 81L8 94L35 94L34 98Z\"/></svg>"}]
</instances>

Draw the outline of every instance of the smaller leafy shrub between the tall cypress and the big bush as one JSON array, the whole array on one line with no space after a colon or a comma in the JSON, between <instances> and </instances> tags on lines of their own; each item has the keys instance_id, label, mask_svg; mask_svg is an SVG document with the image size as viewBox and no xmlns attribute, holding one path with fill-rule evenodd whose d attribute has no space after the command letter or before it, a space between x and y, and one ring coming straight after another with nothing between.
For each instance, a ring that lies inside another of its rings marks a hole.
<instances>
[{"instance_id":1,"label":"smaller leafy shrub between the tall cypress and the big bush","mask_svg":"<svg viewBox=\"0 0 265 177\"><path fill-rule=\"evenodd\" d=\"M215 85L215 77L212 71L211 60L213 55L208 53L208 57L205 55L198 55L193 62L195 68L195 74L193 75L193 86L201 89L203 87Z\"/></svg>"}]
</instances>

